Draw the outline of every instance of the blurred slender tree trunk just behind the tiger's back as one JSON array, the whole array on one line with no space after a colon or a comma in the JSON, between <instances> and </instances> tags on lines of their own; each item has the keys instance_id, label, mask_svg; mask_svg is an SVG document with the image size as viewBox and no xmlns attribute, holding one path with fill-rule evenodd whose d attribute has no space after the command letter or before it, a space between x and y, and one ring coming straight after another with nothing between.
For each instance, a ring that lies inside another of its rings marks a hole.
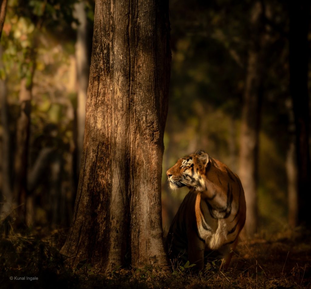
<instances>
[{"instance_id":1,"label":"blurred slender tree trunk just behind the tiger's back","mask_svg":"<svg viewBox=\"0 0 311 289\"><path fill-rule=\"evenodd\" d=\"M248 51L248 67L244 91L241 125L239 177L243 184L246 200L246 235L252 236L258 228L257 180L258 143L262 99L261 34L262 7L256 2L251 11L252 39Z\"/></svg>"}]
</instances>

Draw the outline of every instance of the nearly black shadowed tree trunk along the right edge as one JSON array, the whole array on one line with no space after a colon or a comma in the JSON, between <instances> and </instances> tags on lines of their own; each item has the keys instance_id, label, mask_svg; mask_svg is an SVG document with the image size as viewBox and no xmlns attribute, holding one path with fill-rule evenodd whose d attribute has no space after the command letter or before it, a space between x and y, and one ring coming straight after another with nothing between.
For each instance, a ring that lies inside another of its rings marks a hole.
<instances>
[{"instance_id":1,"label":"nearly black shadowed tree trunk along the right edge","mask_svg":"<svg viewBox=\"0 0 311 289\"><path fill-rule=\"evenodd\" d=\"M308 31L310 3L290 1L290 94L296 126L296 158L298 168L298 224L311 224L309 95L308 95Z\"/></svg>"}]
</instances>

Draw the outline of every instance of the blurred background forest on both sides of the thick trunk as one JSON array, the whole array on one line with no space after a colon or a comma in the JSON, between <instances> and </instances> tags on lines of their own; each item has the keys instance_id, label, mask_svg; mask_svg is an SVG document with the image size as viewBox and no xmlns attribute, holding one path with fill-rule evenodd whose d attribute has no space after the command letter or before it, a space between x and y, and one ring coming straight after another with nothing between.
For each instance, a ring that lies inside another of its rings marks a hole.
<instances>
[{"instance_id":1,"label":"blurred background forest on both sides of the thick trunk","mask_svg":"<svg viewBox=\"0 0 311 289\"><path fill-rule=\"evenodd\" d=\"M177 159L204 149L239 174L240 149L249 142L241 133L242 112L245 95L253 90L258 231L295 226L296 217L289 222L289 196L297 194L289 11L289 3L274 0L170 1L172 68L162 178L165 232L187 193L171 192L167 186L165 172ZM8 0L0 47L4 223L38 230L70 225L93 20L91 0ZM301 29L309 27L308 22ZM310 49L310 32L308 40ZM309 70L309 89L310 79Z\"/></svg>"}]
</instances>

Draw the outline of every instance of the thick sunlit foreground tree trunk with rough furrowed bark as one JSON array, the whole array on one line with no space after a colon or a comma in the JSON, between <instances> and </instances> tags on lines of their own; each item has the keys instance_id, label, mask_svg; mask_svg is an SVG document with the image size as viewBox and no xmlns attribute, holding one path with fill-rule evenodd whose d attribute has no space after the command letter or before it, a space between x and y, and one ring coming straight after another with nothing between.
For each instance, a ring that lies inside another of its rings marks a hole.
<instances>
[{"instance_id":1,"label":"thick sunlit foreground tree trunk with rough furrowed bark","mask_svg":"<svg viewBox=\"0 0 311 289\"><path fill-rule=\"evenodd\" d=\"M96 1L81 172L61 250L73 266L167 264L160 193L169 73L166 1Z\"/></svg>"}]
</instances>

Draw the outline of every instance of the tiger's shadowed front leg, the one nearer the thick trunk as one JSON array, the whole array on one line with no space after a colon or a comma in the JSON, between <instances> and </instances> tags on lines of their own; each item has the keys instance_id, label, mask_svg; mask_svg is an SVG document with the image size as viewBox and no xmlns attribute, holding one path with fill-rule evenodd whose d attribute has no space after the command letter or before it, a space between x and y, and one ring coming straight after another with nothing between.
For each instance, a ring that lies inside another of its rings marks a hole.
<instances>
[{"instance_id":1,"label":"tiger's shadowed front leg, the one nearer the thick trunk","mask_svg":"<svg viewBox=\"0 0 311 289\"><path fill-rule=\"evenodd\" d=\"M205 243L199 239L197 232L188 232L188 258L190 264L196 264L195 270L204 268Z\"/></svg>"}]
</instances>

